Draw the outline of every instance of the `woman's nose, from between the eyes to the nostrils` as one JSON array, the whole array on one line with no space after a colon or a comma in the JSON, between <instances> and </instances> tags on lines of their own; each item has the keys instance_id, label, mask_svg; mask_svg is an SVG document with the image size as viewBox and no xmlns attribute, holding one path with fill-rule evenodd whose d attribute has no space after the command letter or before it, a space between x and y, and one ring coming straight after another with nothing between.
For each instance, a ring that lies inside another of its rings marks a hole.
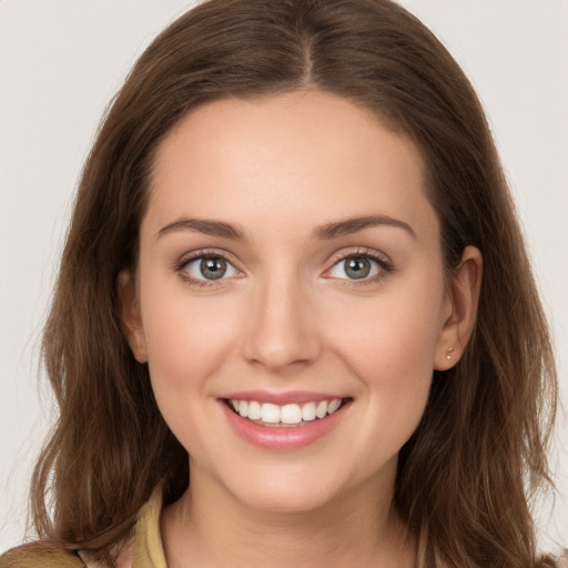
<instances>
[{"instance_id":1,"label":"woman's nose, from between the eyes to the nostrils","mask_svg":"<svg viewBox=\"0 0 568 568\"><path fill-rule=\"evenodd\" d=\"M246 311L244 356L271 372L291 371L313 363L322 342L315 306L293 278L260 284Z\"/></svg>"}]
</instances>

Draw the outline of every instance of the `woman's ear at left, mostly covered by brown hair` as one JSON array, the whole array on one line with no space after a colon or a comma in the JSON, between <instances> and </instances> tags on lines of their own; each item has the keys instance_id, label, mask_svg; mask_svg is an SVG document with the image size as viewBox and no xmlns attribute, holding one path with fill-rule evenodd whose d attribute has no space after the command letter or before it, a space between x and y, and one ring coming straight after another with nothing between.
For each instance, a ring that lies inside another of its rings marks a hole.
<instances>
[{"instance_id":1,"label":"woman's ear at left, mostly covered by brown hair","mask_svg":"<svg viewBox=\"0 0 568 568\"><path fill-rule=\"evenodd\" d=\"M140 315L140 305L138 302L136 282L130 270L123 270L118 278L119 292L121 297L121 324L122 332L134 358L139 363L146 363L146 339Z\"/></svg>"}]
</instances>

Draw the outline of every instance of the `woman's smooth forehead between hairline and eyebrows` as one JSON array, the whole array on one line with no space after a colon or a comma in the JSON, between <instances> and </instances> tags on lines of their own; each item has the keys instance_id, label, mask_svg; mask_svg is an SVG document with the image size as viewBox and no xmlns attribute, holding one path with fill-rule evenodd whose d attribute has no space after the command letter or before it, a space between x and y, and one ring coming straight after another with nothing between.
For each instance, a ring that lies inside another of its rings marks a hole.
<instances>
[{"instance_id":1,"label":"woman's smooth forehead between hairline and eyebrows","mask_svg":"<svg viewBox=\"0 0 568 568\"><path fill-rule=\"evenodd\" d=\"M159 148L146 216L254 224L272 215L307 227L375 213L436 221L419 150L371 111L306 91L224 99L187 114Z\"/></svg>"}]
</instances>

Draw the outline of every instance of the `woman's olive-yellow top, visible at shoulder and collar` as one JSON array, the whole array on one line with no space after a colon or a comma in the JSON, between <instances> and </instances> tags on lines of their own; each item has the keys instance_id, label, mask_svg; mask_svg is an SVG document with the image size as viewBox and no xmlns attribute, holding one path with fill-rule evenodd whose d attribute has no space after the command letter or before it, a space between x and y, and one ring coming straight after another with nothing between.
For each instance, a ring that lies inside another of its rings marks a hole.
<instances>
[{"instance_id":1,"label":"woman's olive-yellow top, visible at shoulder and collar","mask_svg":"<svg viewBox=\"0 0 568 568\"><path fill-rule=\"evenodd\" d=\"M132 550L126 550L124 555L126 558L123 558L123 555L119 558L119 567L166 568L160 535L161 511L162 494L155 490L138 514L132 564L129 561ZM102 568L102 565L89 560L88 552L81 552L78 556L47 541L22 545L0 556L0 568L84 568L85 566Z\"/></svg>"}]
</instances>

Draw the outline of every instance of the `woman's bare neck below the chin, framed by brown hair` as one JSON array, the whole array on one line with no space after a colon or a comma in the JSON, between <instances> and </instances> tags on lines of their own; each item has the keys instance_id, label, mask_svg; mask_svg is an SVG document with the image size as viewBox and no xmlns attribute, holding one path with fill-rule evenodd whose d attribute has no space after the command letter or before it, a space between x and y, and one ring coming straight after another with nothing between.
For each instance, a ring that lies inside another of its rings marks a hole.
<instances>
[{"instance_id":1,"label":"woman's bare neck below the chin, framed by brown hair","mask_svg":"<svg viewBox=\"0 0 568 568\"><path fill-rule=\"evenodd\" d=\"M162 515L170 568L415 566L415 538L390 511L392 493L355 487L313 510L251 508L193 475L191 488Z\"/></svg>"}]
</instances>

